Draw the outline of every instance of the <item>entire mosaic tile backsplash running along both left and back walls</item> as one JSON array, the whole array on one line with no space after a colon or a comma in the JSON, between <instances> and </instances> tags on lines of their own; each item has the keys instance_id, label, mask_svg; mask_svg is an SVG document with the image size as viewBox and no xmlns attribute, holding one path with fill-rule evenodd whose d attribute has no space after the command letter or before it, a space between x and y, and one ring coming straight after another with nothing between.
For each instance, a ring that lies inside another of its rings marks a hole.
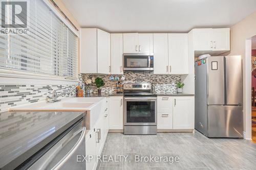
<instances>
[{"instance_id":1,"label":"entire mosaic tile backsplash running along both left and back walls","mask_svg":"<svg viewBox=\"0 0 256 170\"><path fill-rule=\"evenodd\" d=\"M113 76L115 77L116 75ZM121 78L121 75L118 76ZM140 78L142 82L155 84L155 92L176 91L176 85L173 85L172 82L177 83L181 80L181 76L153 75L150 72L125 72L124 76L125 80L122 83L135 82L136 78ZM79 75L81 82L93 77L101 77L104 80L105 85L101 88L102 93L115 92L117 81L110 81L110 75ZM73 97L75 96L76 85L76 83L74 85L0 84L0 112L7 111L8 108L13 106L45 101L46 98L51 98L52 91L56 89L60 89L57 91L58 94L64 90L69 90L62 94L62 96ZM90 87L92 93L97 93L95 84L92 84Z\"/></svg>"}]
</instances>

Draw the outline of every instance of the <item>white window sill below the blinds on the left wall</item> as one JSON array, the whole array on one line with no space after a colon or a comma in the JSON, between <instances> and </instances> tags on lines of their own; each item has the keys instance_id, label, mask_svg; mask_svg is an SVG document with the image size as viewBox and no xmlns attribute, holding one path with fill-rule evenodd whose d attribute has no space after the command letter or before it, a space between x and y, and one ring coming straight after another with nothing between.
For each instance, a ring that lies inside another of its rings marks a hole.
<instances>
[{"instance_id":1,"label":"white window sill below the blinds on the left wall","mask_svg":"<svg viewBox=\"0 0 256 170\"><path fill-rule=\"evenodd\" d=\"M1 84L13 84L14 80L17 81L16 84L31 84L35 82L36 84L59 84L58 82L67 82L69 83L76 83L79 82L79 79L66 79L64 77L55 77L55 76L48 76L48 75L39 75L39 74L31 74L14 71L14 70L5 70L0 69L0 79ZM25 81L27 79L28 81ZM9 81L8 81L9 80ZM38 81L41 80L41 81ZM63 84L61 83L61 84Z\"/></svg>"}]
</instances>

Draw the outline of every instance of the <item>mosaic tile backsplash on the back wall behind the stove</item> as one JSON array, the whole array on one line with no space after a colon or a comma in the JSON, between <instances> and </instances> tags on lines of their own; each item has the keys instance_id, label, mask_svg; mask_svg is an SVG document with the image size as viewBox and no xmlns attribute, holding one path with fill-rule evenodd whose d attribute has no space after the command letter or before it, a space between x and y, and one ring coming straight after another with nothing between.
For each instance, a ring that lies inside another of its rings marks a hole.
<instances>
[{"instance_id":1,"label":"mosaic tile backsplash on the back wall behind the stove","mask_svg":"<svg viewBox=\"0 0 256 170\"><path fill-rule=\"evenodd\" d=\"M113 75L115 77L116 75ZM120 75L118 75L121 78ZM156 92L173 92L176 91L176 85L172 85L172 81L177 83L181 81L181 76L174 76L174 75L153 75L150 72L132 72L127 71L124 73L125 80L123 83L132 83L135 82L136 78L140 78L142 82L148 82L155 84L155 91ZM86 80L87 78L96 78L101 77L105 82L105 85L101 87L101 91L104 93L108 92L115 92L115 85L117 81L110 81L110 75L89 75L83 74L81 75L81 79ZM96 85L91 85L91 91L93 93L97 92Z\"/></svg>"}]
</instances>

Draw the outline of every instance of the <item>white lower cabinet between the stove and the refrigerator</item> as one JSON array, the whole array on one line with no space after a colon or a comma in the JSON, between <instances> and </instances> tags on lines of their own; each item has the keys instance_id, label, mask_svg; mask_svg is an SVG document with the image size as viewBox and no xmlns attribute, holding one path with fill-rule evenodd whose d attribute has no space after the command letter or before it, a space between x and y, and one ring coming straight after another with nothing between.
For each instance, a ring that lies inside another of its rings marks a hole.
<instances>
[{"instance_id":1,"label":"white lower cabinet between the stove and the refrigerator","mask_svg":"<svg viewBox=\"0 0 256 170\"><path fill-rule=\"evenodd\" d=\"M157 129L194 129L194 96L158 96Z\"/></svg>"}]
</instances>

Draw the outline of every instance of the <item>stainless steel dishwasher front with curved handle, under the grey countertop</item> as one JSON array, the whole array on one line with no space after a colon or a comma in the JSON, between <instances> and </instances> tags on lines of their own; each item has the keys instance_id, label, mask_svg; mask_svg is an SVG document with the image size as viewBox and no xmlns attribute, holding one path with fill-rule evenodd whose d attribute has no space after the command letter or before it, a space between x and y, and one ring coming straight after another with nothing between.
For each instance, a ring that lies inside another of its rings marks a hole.
<instances>
[{"instance_id":1,"label":"stainless steel dishwasher front with curved handle, under the grey countertop","mask_svg":"<svg viewBox=\"0 0 256 170\"><path fill-rule=\"evenodd\" d=\"M86 161L77 161L77 155L86 155L86 127L82 120L51 141L19 169L86 169Z\"/></svg>"}]
</instances>

